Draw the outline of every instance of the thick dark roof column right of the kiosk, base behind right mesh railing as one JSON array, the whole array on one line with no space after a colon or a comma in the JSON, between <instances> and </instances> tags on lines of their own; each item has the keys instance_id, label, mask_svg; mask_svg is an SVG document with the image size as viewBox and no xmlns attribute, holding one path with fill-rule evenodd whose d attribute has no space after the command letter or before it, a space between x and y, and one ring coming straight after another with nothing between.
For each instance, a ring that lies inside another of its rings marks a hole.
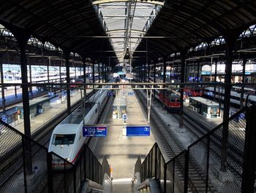
<instances>
[{"instance_id":1,"label":"thick dark roof column right of the kiosk, base behind right mesh railing","mask_svg":"<svg viewBox=\"0 0 256 193\"><path fill-rule=\"evenodd\" d=\"M227 50L226 50L226 65L225 65L225 94L224 94L223 122L226 122L230 116L232 62L233 62L233 50L236 44L235 34L229 34L228 36L225 36L225 42L226 42ZM227 142L228 142L228 123L223 125L223 128L222 128L222 157L221 157L221 167L220 167L220 170L222 172L227 171Z\"/></svg>"}]
</instances>

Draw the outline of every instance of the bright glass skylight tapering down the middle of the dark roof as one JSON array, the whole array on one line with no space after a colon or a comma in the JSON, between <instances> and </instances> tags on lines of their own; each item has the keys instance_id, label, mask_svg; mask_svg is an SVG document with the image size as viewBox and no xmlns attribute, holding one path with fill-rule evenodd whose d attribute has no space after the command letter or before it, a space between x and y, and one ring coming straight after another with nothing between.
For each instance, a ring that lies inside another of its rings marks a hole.
<instances>
[{"instance_id":1,"label":"bright glass skylight tapering down the middle of the dark roof","mask_svg":"<svg viewBox=\"0 0 256 193\"><path fill-rule=\"evenodd\" d=\"M144 36L150 23L164 4L161 1L137 0L99 0L94 1L95 9L102 15L106 25L106 33L111 37L110 42L116 51L119 63L123 62L124 53L129 48L133 53L138 47L140 39Z\"/></svg>"}]
</instances>

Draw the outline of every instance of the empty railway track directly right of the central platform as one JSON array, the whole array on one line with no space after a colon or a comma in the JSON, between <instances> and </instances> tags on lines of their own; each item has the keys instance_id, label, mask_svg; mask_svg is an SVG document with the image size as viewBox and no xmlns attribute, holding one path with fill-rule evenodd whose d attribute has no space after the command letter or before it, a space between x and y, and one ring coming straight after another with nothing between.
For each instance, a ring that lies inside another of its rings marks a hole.
<instances>
[{"instance_id":1,"label":"empty railway track directly right of the central platform","mask_svg":"<svg viewBox=\"0 0 256 193\"><path fill-rule=\"evenodd\" d=\"M147 106L145 103L146 98L143 97L143 94L140 91L136 91L135 93L140 103L142 104L143 109L147 111ZM151 125L153 125L154 130L157 131L156 133L158 135L161 146L169 159L172 159L174 156L184 150L184 146L181 144L180 140L178 140L176 135L173 135L173 133L170 131L170 128L163 126L162 118L154 108L151 108ZM184 163L184 157L176 160L175 170L176 175L180 181L179 184L184 184ZM204 179L206 179L206 176L205 173L202 172L200 166L197 165L195 160L189 159L189 192L206 192L205 186L203 185L206 184ZM176 186L178 185L176 184ZM179 189L183 189L183 187L179 187ZM212 186L211 182L208 184L208 192L217 192L214 186Z\"/></svg>"}]
</instances>

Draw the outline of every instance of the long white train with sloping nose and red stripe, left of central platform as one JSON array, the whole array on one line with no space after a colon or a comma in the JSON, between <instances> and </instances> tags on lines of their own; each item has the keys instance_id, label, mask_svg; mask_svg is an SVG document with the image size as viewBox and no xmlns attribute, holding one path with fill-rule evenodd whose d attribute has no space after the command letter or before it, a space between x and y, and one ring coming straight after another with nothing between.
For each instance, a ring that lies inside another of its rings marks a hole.
<instances>
[{"instance_id":1,"label":"long white train with sloping nose and red stripe, left of central platform","mask_svg":"<svg viewBox=\"0 0 256 193\"><path fill-rule=\"evenodd\" d=\"M89 98L89 102L86 102L85 117L83 117L83 108L80 106L57 125L51 135L48 151L53 151L67 161L75 163L86 142L86 138L83 137L83 119L86 125L97 123L108 101L107 93L108 90L99 90ZM64 169L64 162L59 157L53 156L52 162L54 169ZM68 164L65 167L69 168Z\"/></svg>"}]
</instances>

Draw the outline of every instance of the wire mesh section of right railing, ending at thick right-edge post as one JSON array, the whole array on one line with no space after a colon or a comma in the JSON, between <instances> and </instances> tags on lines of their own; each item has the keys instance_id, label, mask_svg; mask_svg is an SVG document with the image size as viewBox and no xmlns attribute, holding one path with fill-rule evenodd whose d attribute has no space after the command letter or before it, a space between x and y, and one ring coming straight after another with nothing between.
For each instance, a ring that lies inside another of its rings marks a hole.
<instances>
[{"instance_id":1,"label":"wire mesh section of right railing, ending at thick right-edge post","mask_svg":"<svg viewBox=\"0 0 256 193\"><path fill-rule=\"evenodd\" d=\"M241 117L244 117L243 111L189 147L190 190L241 192L246 127L246 119ZM227 140L224 133L228 133ZM191 173L200 178L191 176ZM200 184L197 184L199 180Z\"/></svg>"}]
</instances>

